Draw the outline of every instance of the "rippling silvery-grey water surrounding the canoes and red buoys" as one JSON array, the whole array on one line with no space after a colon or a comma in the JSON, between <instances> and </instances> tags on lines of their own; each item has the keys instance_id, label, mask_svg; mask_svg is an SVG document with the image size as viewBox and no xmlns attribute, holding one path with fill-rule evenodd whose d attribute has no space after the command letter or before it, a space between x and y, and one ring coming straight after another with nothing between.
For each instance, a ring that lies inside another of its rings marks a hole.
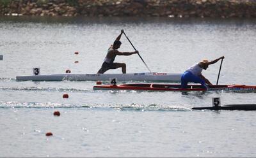
<instances>
[{"instance_id":1,"label":"rippling silvery-grey water surrounding the canoes and red buoys","mask_svg":"<svg viewBox=\"0 0 256 158\"><path fill-rule=\"evenodd\" d=\"M1 17L1 157L256 156L254 111L191 111L211 106L212 97L255 104L255 93L115 92L93 90L95 82L15 81L32 68L96 73L120 29L152 71L182 73L225 55L219 83L255 85L255 20ZM121 41L120 51L133 51L125 36ZM127 64L127 73L147 71L138 55L116 61ZM216 83L219 68L220 62L203 75Z\"/></svg>"}]
</instances>

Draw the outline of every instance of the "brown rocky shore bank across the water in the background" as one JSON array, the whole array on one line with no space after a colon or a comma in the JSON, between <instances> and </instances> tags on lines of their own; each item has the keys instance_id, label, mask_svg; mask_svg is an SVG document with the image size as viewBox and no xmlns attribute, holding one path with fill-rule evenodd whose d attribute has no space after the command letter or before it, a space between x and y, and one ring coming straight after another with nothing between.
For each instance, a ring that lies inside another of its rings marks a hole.
<instances>
[{"instance_id":1,"label":"brown rocky shore bank across the water in the background","mask_svg":"<svg viewBox=\"0 0 256 158\"><path fill-rule=\"evenodd\" d=\"M253 0L0 0L1 15L85 17L256 17Z\"/></svg>"}]
</instances>

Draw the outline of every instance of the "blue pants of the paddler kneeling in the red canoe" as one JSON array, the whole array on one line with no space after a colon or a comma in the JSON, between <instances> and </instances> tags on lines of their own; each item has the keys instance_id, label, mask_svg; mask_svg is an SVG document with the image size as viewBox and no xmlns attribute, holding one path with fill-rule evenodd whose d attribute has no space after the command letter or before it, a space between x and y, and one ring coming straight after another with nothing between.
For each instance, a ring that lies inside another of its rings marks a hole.
<instances>
[{"instance_id":1,"label":"blue pants of the paddler kneeling in the red canoe","mask_svg":"<svg viewBox=\"0 0 256 158\"><path fill-rule=\"evenodd\" d=\"M207 85L202 78L193 75L193 73L189 71L186 71L181 75L181 88L186 89L188 87L188 82L200 83L204 89L207 89Z\"/></svg>"}]
</instances>

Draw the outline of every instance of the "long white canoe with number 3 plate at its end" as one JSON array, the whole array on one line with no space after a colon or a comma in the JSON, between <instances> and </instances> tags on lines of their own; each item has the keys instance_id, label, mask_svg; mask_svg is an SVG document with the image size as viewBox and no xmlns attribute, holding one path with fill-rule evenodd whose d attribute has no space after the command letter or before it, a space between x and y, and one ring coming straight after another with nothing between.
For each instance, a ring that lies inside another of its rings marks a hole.
<instances>
[{"instance_id":1,"label":"long white canoe with number 3 plate at its end","mask_svg":"<svg viewBox=\"0 0 256 158\"><path fill-rule=\"evenodd\" d=\"M146 82L180 82L181 73L126 73L126 74L49 74L33 76L16 76L17 81L106 81L116 78L117 81Z\"/></svg>"}]
</instances>

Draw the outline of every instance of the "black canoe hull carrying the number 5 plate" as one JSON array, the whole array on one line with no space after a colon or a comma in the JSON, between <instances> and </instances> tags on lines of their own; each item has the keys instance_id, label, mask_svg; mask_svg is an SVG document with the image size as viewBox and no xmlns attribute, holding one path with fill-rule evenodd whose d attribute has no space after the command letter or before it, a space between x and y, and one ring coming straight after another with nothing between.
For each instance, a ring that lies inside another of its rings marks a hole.
<instances>
[{"instance_id":1,"label":"black canoe hull carrying the number 5 plate","mask_svg":"<svg viewBox=\"0 0 256 158\"><path fill-rule=\"evenodd\" d=\"M226 104L224 106L194 107L192 110L256 110L256 104Z\"/></svg>"}]
</instances>

